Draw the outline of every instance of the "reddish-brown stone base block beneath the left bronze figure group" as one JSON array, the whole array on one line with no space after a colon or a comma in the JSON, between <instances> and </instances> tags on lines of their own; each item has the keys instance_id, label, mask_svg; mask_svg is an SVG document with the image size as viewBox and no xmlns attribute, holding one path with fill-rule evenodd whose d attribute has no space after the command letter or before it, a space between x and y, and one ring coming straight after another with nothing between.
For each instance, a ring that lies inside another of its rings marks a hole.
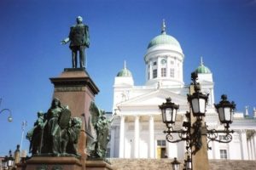
<instances>
[{"instance_id":1,"label":"reddish-brown stone base block beneath the left bronze figure group","mask_svg":"<svg viewBox=\"0 0 256 170\"><path fill-rule=\"evenodd\" d=\"M83 170L75 157L33 156L26 163L17 164L17 170Z\"/></svg>"}]
</instances>

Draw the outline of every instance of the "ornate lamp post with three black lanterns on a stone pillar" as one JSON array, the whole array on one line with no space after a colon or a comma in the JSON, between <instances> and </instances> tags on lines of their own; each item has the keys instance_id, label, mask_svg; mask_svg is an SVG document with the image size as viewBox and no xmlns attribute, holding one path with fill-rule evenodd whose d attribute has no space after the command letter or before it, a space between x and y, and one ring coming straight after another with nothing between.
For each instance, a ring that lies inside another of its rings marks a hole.
<instances>
[{"instance_id":1,"label":"ornate lamp post with three black lanterns on a stone pillar","mask_svg":"<svg viewBox=\"0 0 256 170\"><path fill-rule=\"evenodd\" d=\"M163 122L167 127L164 131L166 140L171 143L186 141L186 150L188 154L190 152L192 159L188 156L185 161L185 169L207 170L209 168L207 149L211 149L208 147L207 139L209 139L209 142L218 141L220 143L229 143L232 140L231 133L234 133L234 131L229 128L230 123L233 121L236 104L233 101L228 101L226 95L222 95L222 100L215 105L215 108L218 112L219 121L224 124L224 130L207 129L204 116L206 115L209 94L201 93L200 84L196 82L197 74L195 72L191 74L191 79L194 93L188 94L188 101L192 114L187 111L185 114L187 120L183 122L182 129L173 129L179 106L172 103L171 98L166 99L166 103L160 105L159 108ZM178 134L178 139L174 139L173 133ZM224 138L218 139L218 133L225 133Z\"/></svg>"}]
</instances>

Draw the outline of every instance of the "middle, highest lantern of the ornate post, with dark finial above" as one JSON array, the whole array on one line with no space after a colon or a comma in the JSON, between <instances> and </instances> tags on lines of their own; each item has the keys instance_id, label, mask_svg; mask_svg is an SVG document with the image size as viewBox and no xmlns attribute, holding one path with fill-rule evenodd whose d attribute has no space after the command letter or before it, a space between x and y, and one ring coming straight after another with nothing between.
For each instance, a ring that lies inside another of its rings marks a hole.
<instances>
[{"instance_id":1,"label":"middle, highest lantern of the ornate post, with dark finial above","mask_svg":"<svg viewBox=\"0 0 256 170\"><path fill-rule=\"evenodd\" d=\"M192 108L193 115L196 117L202 117L206 114L208 94L202 94L200 84L196 82L197 73L191 73L191 79L195 88L194 94L188 94L188 101Z\"/></svg>"}]
</instances>

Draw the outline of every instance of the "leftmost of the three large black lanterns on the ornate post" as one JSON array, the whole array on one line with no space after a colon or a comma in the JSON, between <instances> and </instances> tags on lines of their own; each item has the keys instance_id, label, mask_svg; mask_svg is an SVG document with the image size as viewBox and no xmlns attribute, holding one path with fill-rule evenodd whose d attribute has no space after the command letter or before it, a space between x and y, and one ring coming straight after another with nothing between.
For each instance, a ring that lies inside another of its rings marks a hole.
<instances>
[{"instance_id":1,"label":"leftmost of the three large black lanterns on the ornate post","mask_svg":"<svg viewBox=\"0 0 256 170\"><path fill-rule=\"evenodd\" d=\"M163 103L162 105L159 105L159 108L162 112L162 119L163 122L166 123L167 127L172 127L172 124L175 123L177 110L179 108L179 105L176 105L171 102L171 98L166 99L166 103Z\"/></svg>"}]
</instances>

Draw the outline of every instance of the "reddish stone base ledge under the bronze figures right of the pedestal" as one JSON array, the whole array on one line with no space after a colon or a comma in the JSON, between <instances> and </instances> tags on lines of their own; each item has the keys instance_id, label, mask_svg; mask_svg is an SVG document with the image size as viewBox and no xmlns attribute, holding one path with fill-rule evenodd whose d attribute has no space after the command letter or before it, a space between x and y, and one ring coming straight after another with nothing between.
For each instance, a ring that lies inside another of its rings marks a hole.
<instances>
[{"instance_id":1,"label":"reddish stone base ledge under the bronze figures right of the pedestal","mask_svg":"<svg viewBox=\"0 0 256 170\"><path fill-rule=\"evenodd\" d=\"M103 160L87 160L86 170L113 170L113 167Z\"/></svg>"}]
</instances>

